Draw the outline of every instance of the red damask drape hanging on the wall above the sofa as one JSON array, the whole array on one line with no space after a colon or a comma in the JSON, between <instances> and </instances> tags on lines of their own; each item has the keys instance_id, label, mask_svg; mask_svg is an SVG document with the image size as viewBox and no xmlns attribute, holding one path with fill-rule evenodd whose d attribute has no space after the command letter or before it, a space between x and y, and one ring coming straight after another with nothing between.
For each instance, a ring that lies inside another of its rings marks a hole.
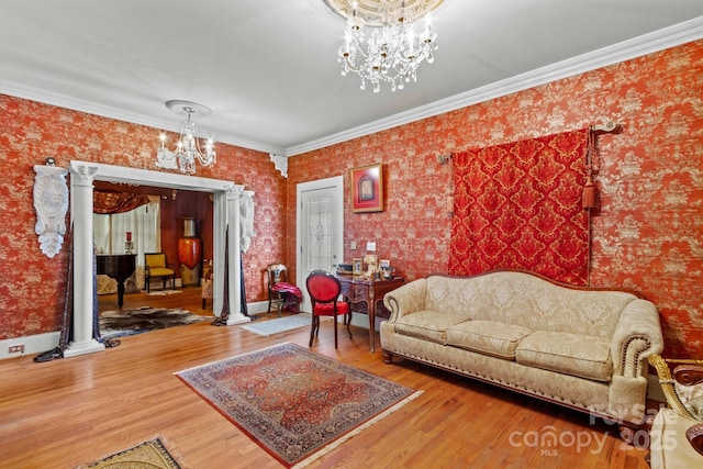
<instances>
[{"instance_id":1,"label":"red damask drape hanging on the wall above the sofa","mask_svg":"<svg viewBox=\"0 0 703 469\"><path fill-rule=\"evenodd\" d=\"M588 284L589 142L587 129L453 154L449 273L526 269Z\"/></svg>"}]
</instances>

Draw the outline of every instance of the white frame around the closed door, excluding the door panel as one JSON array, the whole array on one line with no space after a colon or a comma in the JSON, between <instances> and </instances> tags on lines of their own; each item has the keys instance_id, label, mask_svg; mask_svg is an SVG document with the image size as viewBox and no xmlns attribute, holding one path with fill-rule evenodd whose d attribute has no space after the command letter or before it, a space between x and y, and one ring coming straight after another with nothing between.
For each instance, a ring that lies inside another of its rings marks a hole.
<instances>
[{"instance_id":1,"label":"white frame around the closed door, excluding the door panel","mask_svg":"<svg viewBox=\"0 0 703 469\"><path fill-rule=\"evenodd\" d=\"M333 227L336 232L336 247L337 252L334 253L339 259L339 263L344 259L344 177L334 176L325 179L317 179L314 181L300 182L295 186L295 284L303 293L303 302L301 303L301 311L310 311L310 298L308 297L308 290L305 289L305 278L309 272L303 272L302 267L302 193L306 191L321 190L321 189L334 189L336 188L336 205L333 210L336 210L341 216L337 217L336 226Z\"/></svg>"}]
</instances>

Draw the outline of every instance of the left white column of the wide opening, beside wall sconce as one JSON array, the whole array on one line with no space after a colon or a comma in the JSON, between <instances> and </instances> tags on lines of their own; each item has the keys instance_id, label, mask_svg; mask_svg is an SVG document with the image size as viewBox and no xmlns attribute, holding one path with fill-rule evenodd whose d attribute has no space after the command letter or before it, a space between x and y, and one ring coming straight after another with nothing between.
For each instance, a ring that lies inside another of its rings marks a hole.
<instances>
[{"instance_id":1,"label":"left white column of the wide opening, beside wall sconce","mask_svg":"<svg viewBox=\"0 0 703 469\"><path fill-rule=\"evenodd\" d=\"M105 349L92 336L92 181L98 168L71 165L69 170L74 226L74 337L64 350L66 358Z\"/></svg>"}]
</instances>

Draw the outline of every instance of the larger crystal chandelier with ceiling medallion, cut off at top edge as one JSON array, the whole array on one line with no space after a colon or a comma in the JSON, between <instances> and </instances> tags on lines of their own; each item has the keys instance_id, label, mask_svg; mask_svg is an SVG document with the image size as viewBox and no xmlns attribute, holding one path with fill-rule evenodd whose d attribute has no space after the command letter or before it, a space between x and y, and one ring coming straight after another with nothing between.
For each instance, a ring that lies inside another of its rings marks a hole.
<instances>
[{"instance_id":1,"label":"larger crystal chandelier with ceiling medallion, cut off at top edge","mask_svg":"<svg viewBox=\"0 0 703 469\"><path fill-rule=\"evenodd\" d=\"M347 19L345 41L337 56L342 75L358 74L361 89L369 82L373 92L381 90L381 82L395 91L416 81L420 65L434 62L437 33L432 31L428 13L442 1L324 0ZM422 18L425 24L422 31L415 31L414 22Z\"/></svg>"}]
</instances>

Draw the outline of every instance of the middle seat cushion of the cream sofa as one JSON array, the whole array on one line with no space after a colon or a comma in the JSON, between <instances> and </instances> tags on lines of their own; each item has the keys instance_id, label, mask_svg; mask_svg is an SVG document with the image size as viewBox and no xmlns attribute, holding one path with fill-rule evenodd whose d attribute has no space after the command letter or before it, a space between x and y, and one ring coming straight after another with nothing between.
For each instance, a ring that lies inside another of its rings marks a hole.
<instances>
[{"instance_id":1,"label":"middle seat cushion of the cream sofa","mask_svg":"<svg viewBox=\"0 0 703 469\"><path fill-rule=\"evenodd\" d=\"M494 321L465 321L447 330L447 344L512 360L520 340L531 333L526 327Z\"/></svg>"}]
</instances>

